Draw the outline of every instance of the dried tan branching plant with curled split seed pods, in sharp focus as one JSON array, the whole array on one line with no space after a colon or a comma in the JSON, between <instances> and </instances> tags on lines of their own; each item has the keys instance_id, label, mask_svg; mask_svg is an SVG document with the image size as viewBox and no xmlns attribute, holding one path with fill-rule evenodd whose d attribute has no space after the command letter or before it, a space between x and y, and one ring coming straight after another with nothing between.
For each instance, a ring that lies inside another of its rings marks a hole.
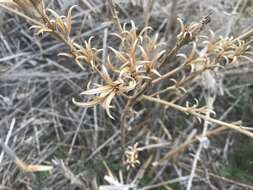
<instances>
[{"instance_id":1,"label":"dried tan branching plant with curled split seed pods, in sharp focus","mask_svg":"<svg viewBox=\"0 0 253 190\"><path fill-rule=\"evenodd\" d=\"M76 98L73 98L75 105L81 107L101 105L107 115L114 119L113 100L118 97L125 99L125 109L121 116L123 148L126 116L140 101L165 105L193 115L200 120L225 126L253 137L253 134L242 126L206 116L206 113L210 111L209 108L199 106L197 101L192 106L189 104L181 106L175 103L177 102L175 99L160 98L166 93L179 93L180 98L187 94L187 88L196 83L197 79L207 74L212 75L240 59L251 61L252 31L235 38L217 38L212 31L202 36L203 29L211 20L210 15L188 25L178 18L180 32L175 36L175 46L169 49L166 43L161 43L158 34L152 35L151 27L145 26L139 30L134 21L121 24L115 3L109 0L108 5L117 28L117 32L112 35L118 38L120 43L118 47L109 48L109 53L103 61L103 49L93 47L93 37L87 39L84 45L78 44L71 37L74 6L69 9L67 16L60 16L56 11L46 9L43 0L4 0L0 2L1 7L31 21L33 24L31 29L35 30L36 35L48 33L63 42L68 47L68 52L60 53L61 56L73 59L81 70L89 70L101 78L101 83L91 81L87 89L81 93L89 97L89 101L77 101ZM191 45L192 48L188 53L182 54L180 49L185 45ZM165 66L176 57L180 60L180 64L169 67L170 69L166 71L168 67ZM177 77L179 73L183 74ZM161 84L159 85L161 88L156 88L157 84ZM138 158L138 156L135 157ZM139 163L135 159L131 158L131 160L128 161L130 166L134 167L136 163Z\"/></svg>"}]
</instances>

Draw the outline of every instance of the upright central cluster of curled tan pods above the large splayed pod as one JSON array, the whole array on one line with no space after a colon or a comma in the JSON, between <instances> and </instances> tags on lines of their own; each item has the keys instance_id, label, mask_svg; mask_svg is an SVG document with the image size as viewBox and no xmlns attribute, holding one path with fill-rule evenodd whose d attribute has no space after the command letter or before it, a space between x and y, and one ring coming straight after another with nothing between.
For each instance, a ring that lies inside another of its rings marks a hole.
<instances>
[{"instance_id":1,"label":"upright central cluster of curled tan pods above the large splayed pod","mask_svg":"<svg viewBox=\"0 0 253 190\"><path fill-rule=\"evenodd\" d=\"M148 30L151 30L151 27L145 27L138 33L137 27L131 21L129 30L124 24L123 32L115 34L121 39L122 46L120 51L111 48L120 62L119 69L115 69L115 66L112 66L115 72L120 72L121 75L128 73L137 80L150 79L150 73L160 75L156 67L159 58L165 53L165 50L160 49L163 44L158 42L158 35L150 37L146 33ZM108 60L109 65L112 65L110 58Z\"/></svg>"}]
</instances>

